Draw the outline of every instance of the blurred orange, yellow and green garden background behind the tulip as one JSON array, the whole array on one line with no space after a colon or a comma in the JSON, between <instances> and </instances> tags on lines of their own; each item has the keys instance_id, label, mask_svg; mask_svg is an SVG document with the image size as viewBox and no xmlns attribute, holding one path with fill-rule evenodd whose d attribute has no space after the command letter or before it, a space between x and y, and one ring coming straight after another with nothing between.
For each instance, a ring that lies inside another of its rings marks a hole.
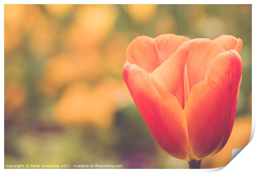
<instances>
[{"instance_id":1,"label":"blurred orange, yellow and green garden background behind the tulip","mask_svg":"<svg viewBox=\"0 0 256 173\"><path fill-rule=\"evenodd\" d=\"M224 166L251 135L251 5L5 5L5 165L188 168L154 142L123 82L139 35L240 37L243 78Z\"/></svg>"}]
</instances>

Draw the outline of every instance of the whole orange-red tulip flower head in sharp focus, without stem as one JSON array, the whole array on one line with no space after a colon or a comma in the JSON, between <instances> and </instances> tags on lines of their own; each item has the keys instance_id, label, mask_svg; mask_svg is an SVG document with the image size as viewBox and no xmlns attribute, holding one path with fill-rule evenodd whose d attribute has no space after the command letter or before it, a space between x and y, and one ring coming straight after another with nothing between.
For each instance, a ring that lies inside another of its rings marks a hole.
<instances>
[{"instance_id":1,"label":"whole orange-red tulip flower head in sharp focus, without stem","mask_svg":"<svg viewBox=\"0 0 256 173\"><path fill-rule=\"evenodd\" d=\"M235 119L242 40L164 34L127 48L123 78L156 143L171 156L199 161L219 152Z\"/></svg>"}]
</instances>

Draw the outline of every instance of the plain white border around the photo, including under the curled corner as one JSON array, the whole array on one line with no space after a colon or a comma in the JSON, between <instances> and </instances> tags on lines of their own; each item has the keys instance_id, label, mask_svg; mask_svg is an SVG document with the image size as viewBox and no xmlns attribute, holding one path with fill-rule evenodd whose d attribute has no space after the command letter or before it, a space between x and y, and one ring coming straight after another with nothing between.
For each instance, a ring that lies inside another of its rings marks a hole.
<instances>
[{"instance_id":1,"label":"plain white border around the photo, including under the curled corner","mask_svg":"<svg viewBox=\"0 0 256 173\"><path fill-rule=\"evenodd\" d=\"M230 3L231 2L231 3ZM0 52L2 55L4 55L4 4L253 4L252 5L252 30L254 31L255 28L255 5L253 3L253 0L232 0L232 1L227 1L227 0L208 0L207 2L204 0L194 0L194 1L188 1L188 0L175 0L175 1L168 1L168 0L147 0L146 3L145 1L140 1L140 0L94 0L94 1L84 1L84 0L44 0L44 1L34 1L34 0L23 0L22 3L19 0L3 0L2 1L2 6L0 7L0 16L1 16L1 27L0 27L0 33L2 35L2 39L0 42ZM252 47L255 46L255 34L252 32ZM254 49L252 50L252 57L255 56L255 51ZM0 94L1 94L1 112L2 112L2 126L1 126L1 157L0 157L0 162L1 162L1 169L4 168L4 56L1 58L1 63L0 63L0 69L1 69L1 81L2 83L0 84ZM252 66L255 67L255 60L252 58ZM255 69L252 68L252 76L255 76ZM255 87L255 81L252 80L252 88ZM158 172L212 172L212 171L218 171L221 169L220 172L226 173L226 172L237 172L237 171L246 171L246 172L253 172L255 171L255 156L256 156L256 140L252 139L255 131L255 92L252 91L252 133L251 133L251 138L250 138L250 143L244 148L244 150L241 151L239 154L239 157L235 157L224 169L221 168L216 168L216 169L201 169L201 170L190 170L190 169L158 169ZM6 172L70 172L71 170L69 169L5 169L4 171ZM74 170L72 170L74 171ZM98 172L98 171L104 171L106 173L112 173L112 172L153 172L156 170L152 169L77 169L75 170L77 172Z\"/></svg>"}]
</instances>

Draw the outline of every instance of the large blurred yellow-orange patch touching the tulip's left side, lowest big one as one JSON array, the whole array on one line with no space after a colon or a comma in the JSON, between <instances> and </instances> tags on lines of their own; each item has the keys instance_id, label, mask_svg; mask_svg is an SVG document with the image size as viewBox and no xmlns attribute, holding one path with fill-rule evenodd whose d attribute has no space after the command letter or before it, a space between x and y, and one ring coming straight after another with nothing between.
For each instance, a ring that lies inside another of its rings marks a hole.
<instances>
[{"instance_id":1,"label":"large blurred yellow-orange patch touching the tulip's left side, lowest big one","mask_svg":"<svg viewBox=\"0 0 256 173\"><path fill-rule=\"evenodd\" d=\"M90 124L108 127L116 106L121 103L124 85L114 79L104 80L94 88L85 82L69 85L53 110L60 124ZM128 93L128 92L127 92Z\"/></svg>"}]
</instances>

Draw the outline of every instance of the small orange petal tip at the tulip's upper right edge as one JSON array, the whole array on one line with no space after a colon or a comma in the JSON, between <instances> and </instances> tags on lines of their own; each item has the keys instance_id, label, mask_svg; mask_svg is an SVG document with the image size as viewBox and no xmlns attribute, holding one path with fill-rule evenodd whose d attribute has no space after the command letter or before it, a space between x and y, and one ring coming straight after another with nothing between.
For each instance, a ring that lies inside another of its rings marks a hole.
<instances>
[{"instance_id":1,"label":"small orange petal tip at the tulip's upper right edge","mask_svg":"<svg viewBox=\"0 0 256 173\"><path fill-rule=\"evenodd\" d=\"M242 50L243 41L240 38L233 37L232 35L221 35L214 39L214 41L220 43L225 51L235 49L238 53Z\"/></svg>"}]
</instances>

